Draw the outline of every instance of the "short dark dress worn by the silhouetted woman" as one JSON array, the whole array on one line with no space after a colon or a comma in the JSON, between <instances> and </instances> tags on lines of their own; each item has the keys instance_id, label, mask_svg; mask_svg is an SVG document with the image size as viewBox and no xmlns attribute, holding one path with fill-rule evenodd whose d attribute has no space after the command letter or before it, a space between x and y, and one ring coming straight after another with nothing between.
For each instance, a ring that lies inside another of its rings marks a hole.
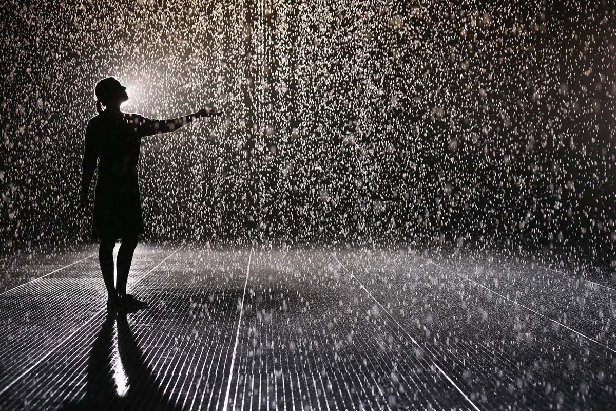
<instances>
[{"instance_id":1,"label":"short dark dress worn by the silhouetted woman","mask_svg":"<svg viewBox=\"0 0 616 411\"><path fill-rule=\"evenodd\" d=\"M84 173L98 169L92 214L94 240L138 237L145 232L137 163L142 137L156 134L155 120L121 114L118 120L101 112L86 127Z\"/></svg>"}]
</instances>

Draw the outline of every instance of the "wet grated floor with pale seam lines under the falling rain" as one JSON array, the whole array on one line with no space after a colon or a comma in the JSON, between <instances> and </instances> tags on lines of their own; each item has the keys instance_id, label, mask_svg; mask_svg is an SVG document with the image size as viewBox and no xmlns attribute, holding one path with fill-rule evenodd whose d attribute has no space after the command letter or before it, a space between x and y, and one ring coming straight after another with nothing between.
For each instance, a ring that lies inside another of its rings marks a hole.
<instances>
[{"instance_id":1,"label":"wet grated floor with pale seam lines under the falling rain","mask_svg":"<svg viewBox=\"0 0 616 411\"><path fill-rule=\"evenodd\" d=\"M616 290L508 258L139 245L0 261L0 410L609 409ZM117 250L116 250L117 251Z\"/></svg>"}]
</instances>

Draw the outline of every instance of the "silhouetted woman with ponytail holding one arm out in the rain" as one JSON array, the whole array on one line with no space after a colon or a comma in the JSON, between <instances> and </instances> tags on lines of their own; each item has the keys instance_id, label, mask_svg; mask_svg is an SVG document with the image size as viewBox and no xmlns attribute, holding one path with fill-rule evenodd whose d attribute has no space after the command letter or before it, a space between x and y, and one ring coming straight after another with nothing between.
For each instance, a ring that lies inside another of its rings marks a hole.
<instances>
[{"instance_id":1,"label":"silhouetted woman with ponytail holding one arm out in the rain","mask_svg":"<svg viewBox=\"0 0 616 411\"><path fill-rule=\"evenodd\" d=\"M97 115L86 126L86 141L81 179L81 204L86 204L94 170L98 168L92 238L100 240L100 270L107 287L108 309L128 310L145 306L126 294L126 282L132 254L139 234L144 233L144 221L139 197L137 162L141 139L179 129L203 116L221 115L208 109L168 120L145 118L123 113L120 105L128 100L126 87L113 77L96 83ZM98 159L98 163L97 163ZM113 247L121 239L116 260L117 283L113 284Z\"/></svg>"}]
</instances>

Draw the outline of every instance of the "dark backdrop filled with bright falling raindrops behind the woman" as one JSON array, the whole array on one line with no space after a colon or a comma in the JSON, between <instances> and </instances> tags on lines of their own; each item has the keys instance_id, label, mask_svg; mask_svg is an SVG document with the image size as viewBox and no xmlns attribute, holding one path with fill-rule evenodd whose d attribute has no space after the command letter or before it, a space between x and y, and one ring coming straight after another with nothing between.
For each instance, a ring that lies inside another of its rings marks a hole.
<instances>
[{"instance_id":1,"label":"dark backdrop filled with bright falling raindrops behind the woman","mask_svg":"<svg viewBox=\"0 0 616 411\"><path fill-rule=\"evenodd\" d=\"M111 75L127 112L226 113L142 142L147 239L609 267L611 2L329 3L2 2L0 253L89 241L83 134Z\"/></svg>"}]
</instances>

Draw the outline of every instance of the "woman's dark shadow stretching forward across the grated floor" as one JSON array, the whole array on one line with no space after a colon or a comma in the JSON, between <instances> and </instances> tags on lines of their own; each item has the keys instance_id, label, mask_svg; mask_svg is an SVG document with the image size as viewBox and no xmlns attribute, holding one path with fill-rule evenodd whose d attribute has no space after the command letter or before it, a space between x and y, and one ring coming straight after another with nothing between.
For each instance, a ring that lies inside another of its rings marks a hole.
<instances>
[{"instance_id":1,"label":"woman's dark shadow stretching forward across the grated floor","mask_svg":"<svg viewBox=\"0 0 616 411\"><path fill-rule=\"evenodd\" d=\"M69 410L180 410L180 396L164 393L137 345L126 314L109 313L87 362L86 393Z\"/></svg>"}]
</instances>

